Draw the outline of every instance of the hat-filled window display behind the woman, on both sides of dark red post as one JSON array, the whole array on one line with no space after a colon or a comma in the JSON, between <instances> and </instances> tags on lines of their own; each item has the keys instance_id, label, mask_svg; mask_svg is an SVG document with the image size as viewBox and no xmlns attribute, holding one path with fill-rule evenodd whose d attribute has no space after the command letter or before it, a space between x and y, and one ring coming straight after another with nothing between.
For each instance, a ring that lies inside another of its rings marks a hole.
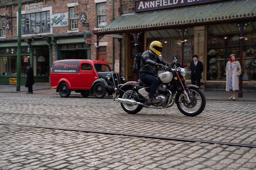
<instances>
[{"instance_id":1,"label":"hat-filled window display behind the woman, on both sides of dark red post","mask_svg":"<svg viewBox=\"0 0 256 170\"><path fill-rule=\"evenodd\" d=\"M243 80L256 81L256 22L248 23L244 32ZM236 24L221 24L208 27L207 80L226 80L226 63L231 54L240 61L239 29ZM254 61L255 60L255 61Z\"/></svg>"}]
</instances>

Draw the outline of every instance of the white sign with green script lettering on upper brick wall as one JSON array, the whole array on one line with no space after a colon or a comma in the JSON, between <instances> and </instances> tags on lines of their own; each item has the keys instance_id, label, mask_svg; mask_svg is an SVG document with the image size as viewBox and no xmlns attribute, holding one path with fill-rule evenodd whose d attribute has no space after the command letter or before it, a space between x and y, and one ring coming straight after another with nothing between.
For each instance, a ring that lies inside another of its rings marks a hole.
<instances>
[{"instance_id":1,"label":"white sign with green script lettering on upper brick wall","mask_svg":"<svg viewBox=\"0 0 256 170\"><path fill-rule=\"evenodd\" d=\"M68 26L68 13L52 14L51 27Z\"/></svg>"}]
</instances>

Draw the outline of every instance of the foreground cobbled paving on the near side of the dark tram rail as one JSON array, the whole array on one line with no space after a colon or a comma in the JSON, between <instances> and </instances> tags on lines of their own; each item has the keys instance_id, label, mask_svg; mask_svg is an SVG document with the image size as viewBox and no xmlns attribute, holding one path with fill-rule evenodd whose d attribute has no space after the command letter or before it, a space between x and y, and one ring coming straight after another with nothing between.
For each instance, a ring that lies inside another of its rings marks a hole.
<instances>
[{"instance_id":1,"label":"foreground cobbled paving on the near side of the dark tram rail","mask_svg":"<svg viewBox=\"0 0 256 170\"><path fill-rule=\"evenodd\" d=\"M253 170L256 148L0 125L1 170Z\"/></svg>"}]
</instances>

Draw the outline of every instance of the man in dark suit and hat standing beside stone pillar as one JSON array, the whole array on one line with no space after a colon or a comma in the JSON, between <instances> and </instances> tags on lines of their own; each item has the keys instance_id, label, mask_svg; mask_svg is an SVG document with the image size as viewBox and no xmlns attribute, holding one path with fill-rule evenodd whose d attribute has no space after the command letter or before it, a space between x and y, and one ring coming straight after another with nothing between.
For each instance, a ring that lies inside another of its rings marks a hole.
<instances>
[{"instance_id":1,"label":"man in dark suit and hat standing beside stone pillar","mask_svg":"<svg viewBox=\"0 0 256 170\"><path fill-rule=\"evenodd\" d=\"M192 62L190 63L191 69L191 83L192 85L197 85L200 87L200 79L202 78L201 74L204 71L203 63L198 61L198 56L195 54L192 56Z\"/></svg>"}]
</instances>

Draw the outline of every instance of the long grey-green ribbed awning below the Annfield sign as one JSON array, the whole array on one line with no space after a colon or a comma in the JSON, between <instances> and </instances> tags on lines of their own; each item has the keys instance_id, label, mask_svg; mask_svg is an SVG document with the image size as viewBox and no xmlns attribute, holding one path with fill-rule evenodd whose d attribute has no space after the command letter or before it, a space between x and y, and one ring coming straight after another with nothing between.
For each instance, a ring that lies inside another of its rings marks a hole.
<instances>
[{"instance_id":1,"label":"long grey-green ribbed awning below the Annfield sign","mask_svg":"<svg viewBox=\"0 0 256 170\"><path fill-rule=\"evenodd\" d=\"M163 29L256 18L256 0L230 0L197 6L124 14L94 34Z\"/></svg>"}]
</instances>

